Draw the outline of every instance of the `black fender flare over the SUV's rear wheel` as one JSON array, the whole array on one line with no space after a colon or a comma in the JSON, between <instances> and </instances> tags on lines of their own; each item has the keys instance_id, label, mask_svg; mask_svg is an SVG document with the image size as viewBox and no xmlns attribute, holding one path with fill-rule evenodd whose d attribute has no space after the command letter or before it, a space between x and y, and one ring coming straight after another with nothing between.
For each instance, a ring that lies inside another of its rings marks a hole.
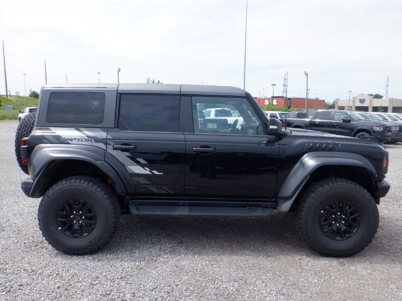
<instances>
[{"instance_id":1,"label":"black fender flare over the SUV's rear wheel","mask_svg":"<svg viewBox=\"0 0 402 301\"><path fill-rule=\"evenodd\" d=\"M105 162L105 149L80 144L40 144L35 146L30 160L29 172L34 181L31 196L41 197L42 175L52 163L59 160L85 161L102 170L116 185L120 195L127 194L127 187L120 175Z\"/></svg>"}]
</instances>

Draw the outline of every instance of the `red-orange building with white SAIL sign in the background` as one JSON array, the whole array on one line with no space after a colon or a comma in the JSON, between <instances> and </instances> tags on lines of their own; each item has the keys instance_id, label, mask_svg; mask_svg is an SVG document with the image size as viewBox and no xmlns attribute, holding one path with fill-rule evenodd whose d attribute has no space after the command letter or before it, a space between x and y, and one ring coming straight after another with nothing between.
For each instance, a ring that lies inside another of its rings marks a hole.
<instances>
[{"instance_id":1,"label":"red-orange building with white SAIL sign in the background","mask_svg":"<svg viewBox=\"0 0 402 301\"><path fill-rule=\"evenodd\" d=\"M262 107L273 105L277 107L286 107L288 109L306 109L306 98L300 97L254 97L255 101ZM309 98L309 109L325 109L325 100L317 98Z\"/></svg>"}]
</instances>

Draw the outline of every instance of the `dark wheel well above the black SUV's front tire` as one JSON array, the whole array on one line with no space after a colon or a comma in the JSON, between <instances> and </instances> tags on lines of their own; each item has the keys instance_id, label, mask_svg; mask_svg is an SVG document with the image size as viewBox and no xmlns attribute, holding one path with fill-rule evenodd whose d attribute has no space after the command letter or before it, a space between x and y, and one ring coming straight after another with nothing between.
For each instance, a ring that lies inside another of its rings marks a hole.
<instances>
[{"instance_id":1,"label":"dark wheel well above the black SUV's front tire","mask_svg":"<svg viewBox=\"0 0 402 301\"><path fill-rule=\"evenodd\" d=\"M355 182L367 190L374 198L375 202L379 202L379 199L376 196L374 177L367 169L357 166L329 165L319 167L310 175L303 190L309 187L312 183L326 178L342 178Z\"/></svg>"}]
</instances>

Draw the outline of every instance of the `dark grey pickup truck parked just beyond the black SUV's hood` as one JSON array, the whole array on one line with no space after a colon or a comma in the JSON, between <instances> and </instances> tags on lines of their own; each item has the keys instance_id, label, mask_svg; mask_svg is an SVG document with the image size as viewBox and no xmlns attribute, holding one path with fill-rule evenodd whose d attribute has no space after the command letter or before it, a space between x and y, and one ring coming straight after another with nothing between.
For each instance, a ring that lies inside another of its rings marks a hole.
<instances>
[{"instance_id":1,"label":"dark grey pickup truck parked just beyond the black SUV's hood","mask_svg":"<svg viewBox=\"0 0 402 301\"><path fill-rule=\"evenodd\" d=\"M312 119L287 119L286 126L356 138L372 136L379 142L387 142L392 136L391 125L387 122L364 119L355 112L343 110L318 110Z\"/></svg>"}]
</instances>

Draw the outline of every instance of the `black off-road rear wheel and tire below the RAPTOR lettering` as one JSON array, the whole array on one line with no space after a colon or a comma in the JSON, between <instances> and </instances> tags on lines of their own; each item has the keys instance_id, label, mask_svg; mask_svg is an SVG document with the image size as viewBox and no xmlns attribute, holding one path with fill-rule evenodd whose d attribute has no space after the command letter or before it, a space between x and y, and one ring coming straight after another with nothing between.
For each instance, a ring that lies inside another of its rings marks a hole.
<instances>
[{"instance_id":1,"label":"black off-road rear wheel and tire below the RAPTOR lettering","mask_svg":"<svg viewBox=\"0 0 402 301\"><path fill-rule=\"evenodd\" d=\"M79 203L80 207L70 206ZM38 210L39 228L45 239L57 250L72 255L94 253L104 247L115 234L119 218L116 195L106 184L87 176L74 176L54 184L42 198ZM91 230L80 236L81 230L86 229L84 223L90 219Z\"/></svg>"}]
</instances>

